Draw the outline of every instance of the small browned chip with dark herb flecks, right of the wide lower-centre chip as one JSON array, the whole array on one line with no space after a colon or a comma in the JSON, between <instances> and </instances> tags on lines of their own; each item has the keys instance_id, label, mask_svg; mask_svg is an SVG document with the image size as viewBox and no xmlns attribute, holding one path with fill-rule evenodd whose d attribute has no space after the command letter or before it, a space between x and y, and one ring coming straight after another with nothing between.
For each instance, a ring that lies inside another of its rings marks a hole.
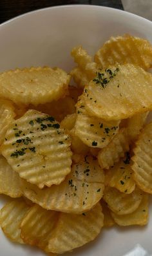
<instances>
[{"instance_id":1,"label":"small browned chip with dark herb flecks, right of the wide lower-centre chip","mask_svg":"<svg viewBox=\"0 0 152 256\"><path fill-rule=\"evenodd\" d=\"M129 152L121 158L119 163L111 166L105 172L105 180L108 186L117 188L120 192L130 194L135 189L135 180L133 180L132 161Z\"/></svg>"}]
</instances>

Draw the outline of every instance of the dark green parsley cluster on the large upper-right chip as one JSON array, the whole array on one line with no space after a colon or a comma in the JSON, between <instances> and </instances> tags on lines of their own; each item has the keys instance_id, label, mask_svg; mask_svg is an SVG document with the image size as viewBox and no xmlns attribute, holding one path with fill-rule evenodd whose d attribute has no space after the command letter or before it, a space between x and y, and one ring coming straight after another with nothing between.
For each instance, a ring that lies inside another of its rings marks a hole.
<instances>
[{"instance_id":1,"label":"dark green parsley cluster on the large upper-right chip","mask_svg":"<svg viewBox=\"0 0 152 256\"><path fill-rule=\"evenodd\" d=\"M95 83L101 85L101 87L104 89L104 88L106 88L109 81L112 78L114 78L114 76L116 76L118 71L119 71L119 68L115 69L114 71L112 71L111 69L105 69L104 73L96 72L97 76L96 76L96 78L93 79L93 81ZM105 74L106 74L106 76L108 74L108 78L104 77Z\"/></svg>"}]
</instances>

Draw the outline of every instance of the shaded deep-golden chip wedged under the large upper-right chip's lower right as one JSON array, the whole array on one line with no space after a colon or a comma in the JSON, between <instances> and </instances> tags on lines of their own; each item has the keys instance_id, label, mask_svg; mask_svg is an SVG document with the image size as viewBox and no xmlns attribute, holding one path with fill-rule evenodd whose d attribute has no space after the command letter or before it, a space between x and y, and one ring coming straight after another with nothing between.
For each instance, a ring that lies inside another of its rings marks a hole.
<instances>
[{"instance_id":1,"label":"shaded deep-golden chip wedged under the large upper-right chip's lower right","mask_svg":"<svg viewBox=\"0 0 152 256\"><path fill-rule=\"evenodd\" d=\"M128 134L132 140L137 139L138 134L140 134L142 127L146 123L146 118L148 114L149 114L149 111L135 114L131 118L128 118L128 122L127 122Z\"/></svg>"}]
</instances>

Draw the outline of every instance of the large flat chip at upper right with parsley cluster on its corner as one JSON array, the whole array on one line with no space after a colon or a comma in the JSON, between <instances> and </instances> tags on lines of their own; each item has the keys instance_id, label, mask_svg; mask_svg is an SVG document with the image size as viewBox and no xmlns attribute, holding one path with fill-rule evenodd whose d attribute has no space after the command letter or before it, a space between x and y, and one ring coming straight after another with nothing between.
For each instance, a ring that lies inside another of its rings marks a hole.
<instances>
[{"instance_id":1,"label":"large flat chip at upper right with parsley cluster on its corner","mask_svg":"<svg viewBox=\"0 0 152 256\"><path fill-rule=\"evenodd\" d=\"M122 120L146 112L152 109L151 84L152 74L132 64L98 70L84 87L86 110L105 120Z\"/></svg>"}]
</instances>

